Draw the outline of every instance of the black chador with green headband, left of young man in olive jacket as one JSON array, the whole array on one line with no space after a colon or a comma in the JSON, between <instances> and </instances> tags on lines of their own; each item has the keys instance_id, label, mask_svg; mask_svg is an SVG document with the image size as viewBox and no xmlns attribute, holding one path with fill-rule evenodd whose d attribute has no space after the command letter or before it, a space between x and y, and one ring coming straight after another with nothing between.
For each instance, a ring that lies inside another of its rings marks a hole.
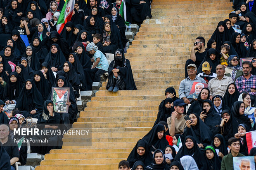
<instances>
[{"instance_id":1,"label":"black chador with green headband, left of young man in olive jacket","mask_svg":"<svg viewBox=\"0 0 256 170\"><path fill-rule=\"evenodd\" d=\"M214 156L212 159L208 159L206 156L206 150L210 150L211 152L213 152ZM221 161L217 155L216 150L214 149L214 147L212 145L207 145L204 149L204 156L206 159L206 163L208 166L208 170L220 170L220 166L221 166Z\"/></svg>"}]
</instances>

